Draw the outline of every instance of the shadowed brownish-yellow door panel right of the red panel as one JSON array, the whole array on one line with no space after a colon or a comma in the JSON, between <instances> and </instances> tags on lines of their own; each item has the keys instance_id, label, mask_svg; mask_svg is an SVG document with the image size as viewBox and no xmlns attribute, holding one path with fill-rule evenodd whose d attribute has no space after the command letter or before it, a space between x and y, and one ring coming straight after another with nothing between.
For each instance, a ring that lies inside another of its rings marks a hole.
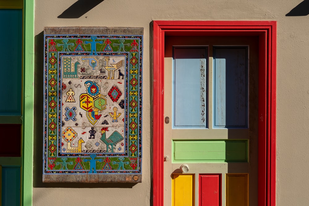
<instances>
[{"instance_id":1,"label":"shadowed brownish-yellow door panel right of the red panel","mask_svg":"<svg viewBox=\"0 0 309 206\"><path fill-rule=\"evenodd\" d=\"M248 206L248 174L226 174L226 206Z\"/></svg>"}]
</instances>

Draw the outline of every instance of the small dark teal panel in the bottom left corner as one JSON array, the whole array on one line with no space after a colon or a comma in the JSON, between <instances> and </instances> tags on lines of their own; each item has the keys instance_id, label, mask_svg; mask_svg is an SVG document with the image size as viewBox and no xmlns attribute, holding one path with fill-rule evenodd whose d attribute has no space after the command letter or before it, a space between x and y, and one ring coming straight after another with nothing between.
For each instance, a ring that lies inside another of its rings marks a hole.
<instances>
[{"instance_id":1,"label":"small dark teal panel in the bottom left corner","mask_svg":"<svg viewBox=\"0 0 309 206\"><path fill-rule=\"evenodd\" d=\"M20 205L20 166L2 166L2 206Z\"/></svg>"}]
</instances>

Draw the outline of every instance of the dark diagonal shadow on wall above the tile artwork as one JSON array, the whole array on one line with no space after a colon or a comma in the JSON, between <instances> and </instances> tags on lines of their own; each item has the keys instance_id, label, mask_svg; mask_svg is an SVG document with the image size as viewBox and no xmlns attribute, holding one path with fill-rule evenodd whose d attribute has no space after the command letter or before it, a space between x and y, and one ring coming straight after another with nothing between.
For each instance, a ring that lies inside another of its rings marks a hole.
<instances>
[{"instance_id":1,"label":"dark diagonal shadow on wall above the tile artwork","mask_svg":"<svg viewBox=\"0 0 309 206\"><path fill-rule=\"evenodd\" d=\"M62 12L62 14L58 16L58 18L77 19L103 1L104 0L78 0L69 8L67 8L66 11Z\"/></svg>"}]
</instances>

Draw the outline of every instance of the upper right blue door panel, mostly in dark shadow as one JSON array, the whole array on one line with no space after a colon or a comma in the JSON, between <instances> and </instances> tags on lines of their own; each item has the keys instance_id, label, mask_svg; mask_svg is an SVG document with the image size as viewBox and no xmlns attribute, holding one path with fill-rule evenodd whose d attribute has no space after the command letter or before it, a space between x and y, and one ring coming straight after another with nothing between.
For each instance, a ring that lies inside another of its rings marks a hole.
<instances>
[{"instance_id":1,"label":"upper right blue door panel, mostly in dark shadow","mask_svg":"<svg viewBox=\"0 0 309 206\"><path fill-rule=\"evenodd\" d=\"M248 127L248 49L214 47L214 127Z\"/></svg>"}]
</instances>

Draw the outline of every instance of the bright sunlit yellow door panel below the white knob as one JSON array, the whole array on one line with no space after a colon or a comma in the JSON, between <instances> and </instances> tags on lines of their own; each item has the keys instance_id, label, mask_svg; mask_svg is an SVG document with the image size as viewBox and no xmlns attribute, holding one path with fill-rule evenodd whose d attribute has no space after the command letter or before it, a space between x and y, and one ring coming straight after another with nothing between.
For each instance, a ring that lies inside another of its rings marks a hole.
<instances>
[{"instance_id":1,"label":"bright sunlit yellow door panel below the white knob","mask_svg":"<svg viewBox=\"0 0 309 206\"><path fill-rule=\"evenodd\" d=\"M172 205L194 205L194 174L173 174Z\"/></svg>"}]
</instances>

